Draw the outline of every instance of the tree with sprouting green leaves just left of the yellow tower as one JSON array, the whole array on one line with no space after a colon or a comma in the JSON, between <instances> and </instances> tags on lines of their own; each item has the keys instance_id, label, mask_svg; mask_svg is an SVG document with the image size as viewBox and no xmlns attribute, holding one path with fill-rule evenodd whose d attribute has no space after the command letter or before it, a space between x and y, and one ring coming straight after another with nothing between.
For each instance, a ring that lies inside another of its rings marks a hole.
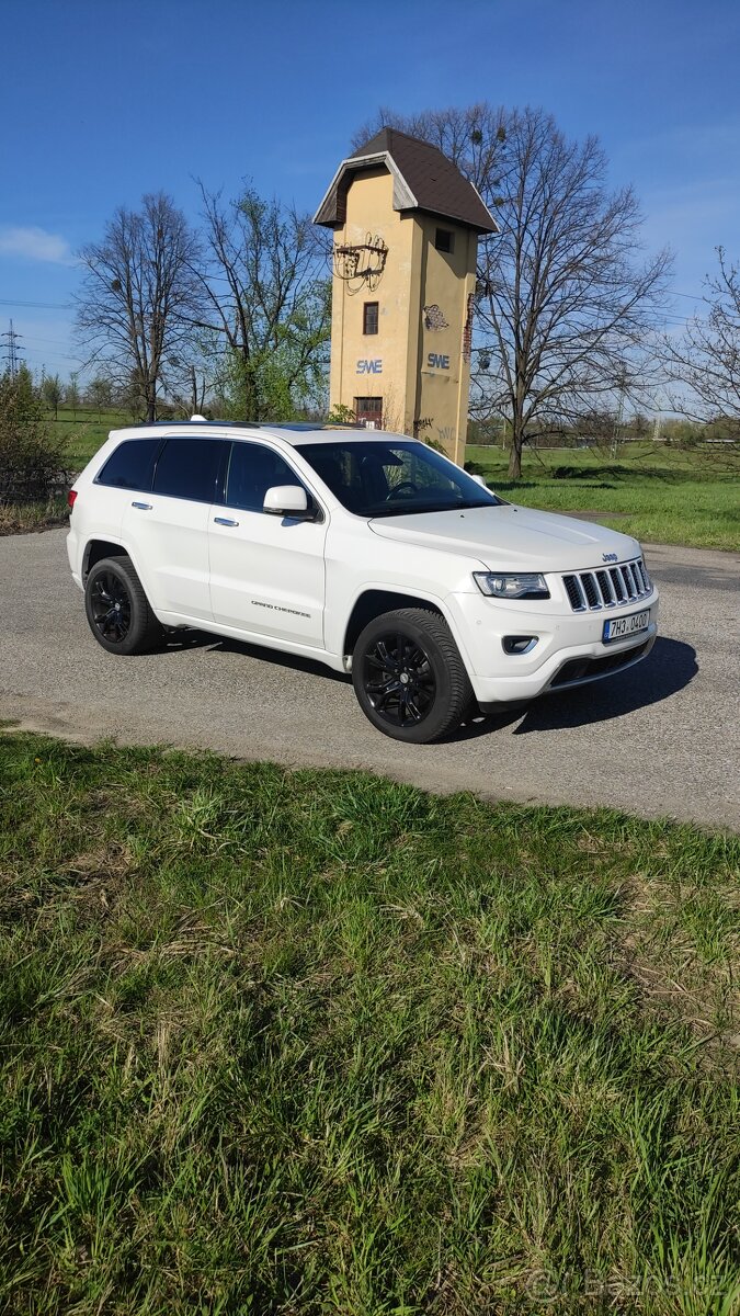
<instances>
[{"instance_id":1,"label":"tree with sprouting green leaves just left of the yellow tower","mask_svg":"<svg viewBox=\"0 0 740 1316\"><path fill-rule=\"evenodd\" d=\"M312 400L325 372L330 325L324 236L308 216L251 188L230 203L200 184L207 270L199 274L226 379L248 420L290 416Z\"/></svg>"}]
</instances>

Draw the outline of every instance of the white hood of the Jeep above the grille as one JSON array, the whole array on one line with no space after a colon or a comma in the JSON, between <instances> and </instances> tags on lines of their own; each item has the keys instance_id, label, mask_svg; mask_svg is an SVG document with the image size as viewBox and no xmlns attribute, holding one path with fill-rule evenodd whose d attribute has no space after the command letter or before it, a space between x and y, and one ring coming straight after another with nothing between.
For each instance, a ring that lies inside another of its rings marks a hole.
<instances>
[{"instance_id":1,"label":"white hood of the Jeep above the grille","mask_svg":"<svg viewBox=\"0 0 740 1316\"><path fill-rule=\"evenodd\" d=\"M578 571L637 557L640 545L606 525L554 512L502 503L462 512L420 512L375 517L370 529L383 540L478 558L491 571ZM612 559L614 561L614 559Z\"/></svg>"}]
</instances>

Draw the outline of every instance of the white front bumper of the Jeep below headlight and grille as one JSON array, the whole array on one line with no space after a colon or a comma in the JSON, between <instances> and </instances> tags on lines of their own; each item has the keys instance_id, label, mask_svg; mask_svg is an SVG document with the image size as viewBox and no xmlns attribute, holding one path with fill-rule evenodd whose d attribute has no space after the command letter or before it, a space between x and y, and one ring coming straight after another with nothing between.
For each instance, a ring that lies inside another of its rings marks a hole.
<instances>
[{"instance_id":1,"label":"white front bumper of the Jeep below headlight and grille","mask_svg":"<svg viewBox=\"0 0 740 1316\"><path fill-rule=\"evenodd\" d=\"M470 684L482 705L536 699L549 690L598 680L647 658L657 636L658 595L594 612L564 612L548 600L540 608L516 607L473 594L448 599L453 625L461 637ZM607 616L649 611L649 625L624 640L603 644ZM507 654L506 636L536 636L521 654Z\"/></svg>"}]
</instances>

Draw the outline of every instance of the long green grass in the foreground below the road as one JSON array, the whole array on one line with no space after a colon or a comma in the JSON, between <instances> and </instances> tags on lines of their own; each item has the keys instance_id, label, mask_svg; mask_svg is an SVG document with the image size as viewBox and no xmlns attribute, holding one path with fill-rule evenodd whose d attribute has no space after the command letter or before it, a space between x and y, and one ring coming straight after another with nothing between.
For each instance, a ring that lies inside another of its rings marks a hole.
<instances>
[{"instance_id":1,"label":"long green grass in the foreground below the road","mask_svg":"<svg viewBox=\"0 0 740 1316\"><path fill-rule=\"evenodd\" d=\"M740 842L0 737L0 1305L731 1316Z\"/></svg>"}]
</instances>

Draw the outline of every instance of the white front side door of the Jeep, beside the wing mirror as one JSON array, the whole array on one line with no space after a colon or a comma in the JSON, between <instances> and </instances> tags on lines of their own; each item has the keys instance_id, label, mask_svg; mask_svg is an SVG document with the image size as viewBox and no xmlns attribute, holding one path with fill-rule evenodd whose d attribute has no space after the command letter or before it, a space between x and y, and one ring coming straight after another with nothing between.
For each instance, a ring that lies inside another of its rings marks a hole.
<instances>
[{"instance_id":1,"label":"white front side door of the Jeep, beside the wing mirror","mask_svg":"<svg viewBox=\"0 0 740 1316\"><path fill-rule=\"evenodd\" d=\"M250 441L232 443L224 507L211 511L213 620L321 649L327 516L308 490L311 519L265 512L265 494L277 484L305 488L275 449Z\"/></svg>"}]
</instances>

